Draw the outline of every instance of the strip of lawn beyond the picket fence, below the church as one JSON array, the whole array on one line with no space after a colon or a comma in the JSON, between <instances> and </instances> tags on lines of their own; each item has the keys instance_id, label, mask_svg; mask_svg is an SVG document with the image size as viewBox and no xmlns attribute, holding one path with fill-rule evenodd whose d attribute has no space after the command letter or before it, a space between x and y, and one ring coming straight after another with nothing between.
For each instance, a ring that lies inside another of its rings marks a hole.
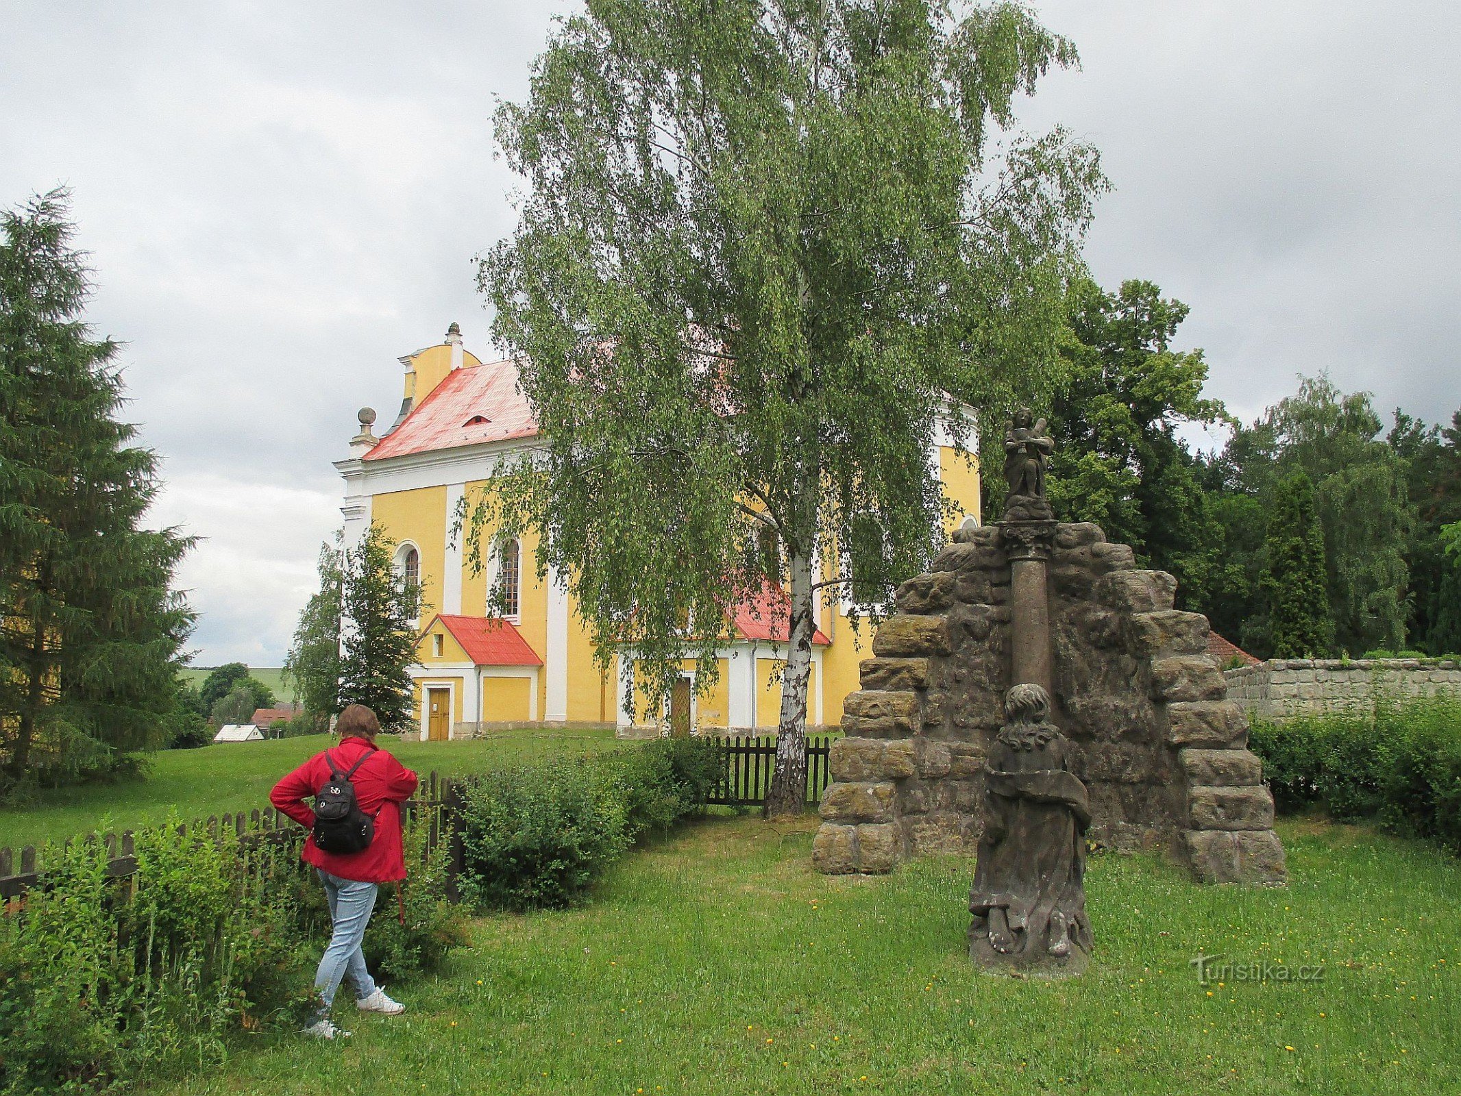
<instances>
[{"instance_id":1,"label":"strip of lawn beyond the picket fence, below the church","mask_svg":"<svg viewBox=\"0 0 1461 1096\"><path fill-rule=\"evenodd\" d=\"M41 792L23 807L0 808L0 848L61 842L96 830L110 815L117 831L159 823L177 807L183 818L251 811L269 805L269 789L304 758L333 745L332 735L221 742L162 750L145 780L117 780ZM586 753L615 744L612 731L523 729L451 742L381 739L411 769L450 776L530 760L548 753Z\"/></svg>"}]
</instances>

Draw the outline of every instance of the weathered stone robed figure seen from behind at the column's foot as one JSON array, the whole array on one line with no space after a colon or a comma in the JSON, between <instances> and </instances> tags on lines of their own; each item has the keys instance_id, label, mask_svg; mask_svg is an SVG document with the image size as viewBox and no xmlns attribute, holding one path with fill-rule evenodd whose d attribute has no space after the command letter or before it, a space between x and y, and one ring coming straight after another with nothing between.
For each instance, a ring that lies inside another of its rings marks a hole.
<instances>
[{"instance_id":1,"label":"weathered stone robed figure seen from behind at the column's foot","mask_svg":"<svg viewBox=\"0 0 1461 1096\"><path fill-rule=\"evenodd\" d=\"M969 910L969 953L983 967L1077 975L1091 947L1086 916L1086 785L1039 685L1005 694L1007 722L985 772L985 831Z\"/></svg>"}]
</instances>

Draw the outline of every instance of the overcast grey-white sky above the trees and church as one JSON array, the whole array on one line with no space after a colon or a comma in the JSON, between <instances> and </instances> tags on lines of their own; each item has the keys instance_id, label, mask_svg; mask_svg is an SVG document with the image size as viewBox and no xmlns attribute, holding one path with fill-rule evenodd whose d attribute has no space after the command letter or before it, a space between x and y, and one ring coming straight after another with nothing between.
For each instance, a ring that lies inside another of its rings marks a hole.
<instances>
[{"instance_id":1,"label":"overcast grey-white sky above the trees and church","mask_svg":"<svg viewBox=\"0 0 1461 1096\"><path fill-rule=\"evenodd\" d=\"M495 96L527 3L0 3L0 205L67 184L99 332L165 459L161 523L199 665L278 665L339 525L355 409L462 323L513 225ZM1026 123L1094 142L1096 276L1186 301L1210 395L1245 419L1330 370L1427 421L1461 405L1461 4L1052 0L1080 72Z\"/></svg>"}]
</instances>

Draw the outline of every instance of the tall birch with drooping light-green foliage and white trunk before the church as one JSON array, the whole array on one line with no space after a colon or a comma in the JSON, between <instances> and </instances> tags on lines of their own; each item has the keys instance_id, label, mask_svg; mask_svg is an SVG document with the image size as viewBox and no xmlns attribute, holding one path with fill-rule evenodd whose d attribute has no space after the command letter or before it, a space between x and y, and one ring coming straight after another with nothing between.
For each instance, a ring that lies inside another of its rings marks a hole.
<instances>
[{"instance_id":1,"label":"tall birch with drooping light-green foliage and white trunk before the church","mask_svg":"<svg viewBox=\"0 0 1461 1096\"><path fill-rule=\"evenodd\" d=\"M1012 3L589 0L498 111L527 191L481 285L546 446L473 555L536 529L652 699L684 656L709 687L728 606L789 580L773 802L801 808L817 564L887 596L935 548L947 393L1052 374L1096 155L989 146L1074 61Z\"/></svg>"}]
</instances>

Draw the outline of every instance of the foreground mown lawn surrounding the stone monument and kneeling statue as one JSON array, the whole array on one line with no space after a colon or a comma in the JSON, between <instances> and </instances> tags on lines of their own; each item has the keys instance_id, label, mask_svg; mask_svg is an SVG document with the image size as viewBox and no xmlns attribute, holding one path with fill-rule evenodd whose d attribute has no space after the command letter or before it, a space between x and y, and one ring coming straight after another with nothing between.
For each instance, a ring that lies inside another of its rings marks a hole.
<instances>
[{"instance_id":1,"label":"foreground mown lawn surrounding the stone monument and kneeling statue","mask_svg":"<svg viewBox=\"0 0 1461 1096\"><path fill-rule=\"evenodd\" d=\"M1461 865L1369 830L1281 824L1292 884L1198 887L1091 859L1097 950L1069 982L976 973L967 859L811 871L814 820L710 818L576 910L487 916L402 1017L343 1043L259 1036L221 1093L1451 1093ZM1322 964L1202 986L1189 960ZM348 994L342 994L348 998Z\"/></svg>"}]
</instances>

